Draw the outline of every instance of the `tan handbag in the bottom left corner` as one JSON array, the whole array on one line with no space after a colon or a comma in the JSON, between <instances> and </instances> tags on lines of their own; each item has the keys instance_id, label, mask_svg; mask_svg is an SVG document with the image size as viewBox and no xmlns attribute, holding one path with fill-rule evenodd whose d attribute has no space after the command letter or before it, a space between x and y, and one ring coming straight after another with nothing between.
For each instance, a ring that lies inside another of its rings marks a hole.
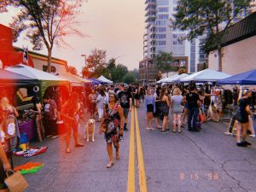
<instances>
[{"instance_id":1,"label":"tan handbag in the bottom left corner","mask_svg":"<svg viewBox=\"0 0 256 192\"><path fill-rule=\"evenodd\" d=\"M11 172L13 172L12 175L9 175L9 173L6 172L7 178L4 180L4 183L7 185L9 191L10 192L24 191L28 187L25 177L21 175L20 171L18 172L11 171Z\"/></svg>"}]
</instances>

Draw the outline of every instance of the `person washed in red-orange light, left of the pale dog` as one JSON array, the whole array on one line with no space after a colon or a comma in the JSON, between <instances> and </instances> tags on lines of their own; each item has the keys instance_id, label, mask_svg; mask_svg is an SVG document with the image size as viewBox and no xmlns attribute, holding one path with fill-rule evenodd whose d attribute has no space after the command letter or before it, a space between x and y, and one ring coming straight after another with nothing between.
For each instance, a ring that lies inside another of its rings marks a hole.
<instances>
[{"instance_id":1,"label":"person washed in red-orange light, left of the pale dog","mask_svg":"<svg viewBox=\"0 0 256 192\"><path fill-rule=\"evenodd\" d=\"M61 111L62 119L67 127L67 137L66 137L66 153L70 153L70 137L71 131L73 129L73 137L75 141L75 147L83 147L84 144L79 143L79 122L76 119L77 114L79 113L79 94L73 92L69 97L67 102L64 103Z\"/></svg>"}]
</instances>

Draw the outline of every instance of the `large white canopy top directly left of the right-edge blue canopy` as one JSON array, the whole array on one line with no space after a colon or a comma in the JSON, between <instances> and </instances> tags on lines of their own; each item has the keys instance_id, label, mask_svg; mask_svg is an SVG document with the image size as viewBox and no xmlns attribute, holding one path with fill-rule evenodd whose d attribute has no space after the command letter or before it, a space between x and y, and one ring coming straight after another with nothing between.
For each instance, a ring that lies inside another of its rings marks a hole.
<instances>
[{"instance_id":1,"label":"large white canopy top directly left of the right-edge blue canopy","mask_svg":"<svg viewBox=\"0 0 256 192\"><path fill-rule=\"evenodd\" d=\"M183 79L180 79L180 82L189 82L189 81L195 81L195 82L216 82L221 79L229 78L230 75L222 72L215 71L213 69L207 68L205 70L202 70L197 73L190 74L187 77L184 77Z\"/></svg>"}]
</instances>

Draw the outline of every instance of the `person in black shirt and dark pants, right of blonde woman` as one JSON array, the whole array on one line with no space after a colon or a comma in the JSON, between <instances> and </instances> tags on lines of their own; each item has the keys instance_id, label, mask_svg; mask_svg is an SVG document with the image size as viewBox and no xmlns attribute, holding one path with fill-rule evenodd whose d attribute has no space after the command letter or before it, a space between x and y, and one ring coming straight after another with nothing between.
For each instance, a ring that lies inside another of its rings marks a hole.
<instances>
[{"instance_id":1,"label":"person in black shirt and dark pants, right of blonde woman","mask_svg":"<svg viewBox=\"0 0 256 192\"><path fill-rule=\"evenodd\" d=\"M188 102L188 107L189 107L188 129L189 131L199 131L195 126L196 119L199 114L199 108L198 108L199 96L196 93L194 85L190 87L190 91L189 91L189 94L187 94L186 96L186 100ZM193 126L191 126L192 119L193 119L193 124L192 124Z\"/></svg>"}]
</instances>

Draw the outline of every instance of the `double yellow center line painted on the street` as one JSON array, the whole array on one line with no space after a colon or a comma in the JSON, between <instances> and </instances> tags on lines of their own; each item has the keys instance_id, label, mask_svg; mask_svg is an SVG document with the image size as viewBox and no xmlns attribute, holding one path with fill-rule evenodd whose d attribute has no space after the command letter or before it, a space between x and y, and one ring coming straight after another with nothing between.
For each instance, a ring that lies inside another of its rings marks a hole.
<instances>
[{"instance_id":1,"label":"double yellow center line painted on the street","mask_svg":"<svg viewBox=\"0 0 256 192\"><path fill-rule=\"evenodd\" d=\"M135 119L135 120L134 120ZM137 162L138 162L138 178L139 188L141 192L147 192L147 179L143 160L143 146L140 134L140 127L137 118L137 108L131 111L131 133L130 133L130 152L129 152L129 170L128 170L128 192L135 192L135 136L134 128L136 128L137 137Z\"/></svg>"}]
</instances>

